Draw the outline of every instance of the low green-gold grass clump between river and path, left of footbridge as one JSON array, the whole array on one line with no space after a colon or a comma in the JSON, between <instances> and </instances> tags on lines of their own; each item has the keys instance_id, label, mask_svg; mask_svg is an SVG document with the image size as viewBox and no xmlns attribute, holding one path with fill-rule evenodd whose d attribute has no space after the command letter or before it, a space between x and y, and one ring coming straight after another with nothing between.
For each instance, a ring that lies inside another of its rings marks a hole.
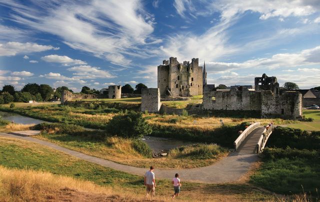
<instances>
[{"instance_id":1,"label":"low green-gold grass clump between river and path, left of footbridge","mask_svg":"<svg viewBox=\"0 0 320 202\"><path fill-rule=\"evenodd\" d=\"M194 144L172 149L168 155L172 158L211 159L226 152L225 148L216 144Z\"/></svg>"}]
</instances>

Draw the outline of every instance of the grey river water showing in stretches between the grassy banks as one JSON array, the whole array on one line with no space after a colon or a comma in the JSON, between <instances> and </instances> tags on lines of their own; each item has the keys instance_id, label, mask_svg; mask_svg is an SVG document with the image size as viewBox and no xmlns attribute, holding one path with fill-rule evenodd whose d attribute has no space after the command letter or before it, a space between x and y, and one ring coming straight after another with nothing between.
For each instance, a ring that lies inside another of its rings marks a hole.
<instances>
[{"instance_id":1,"label":"grey river water showing in stretches between the grassy banks","mask_svg":"<svg viewBox=\"0 0 320 202\"><path fill-rule=\"evenodd\" d=\"M39 124L46 121L42 121L39 119L33 119L26 116L21 116L19 114L11 113L11 112L1 112L0 116L4 120L13 121L17 124ZM48 123L48 122L46 122ZM90 128L85 128L87 130L95 130ZM145 142L154 153L167 153L170 149L181 147L183 145L189 145L190 142L179 141L169 138L159 138L159 137L152 137L152 136L144 136L142 141Z\"/></svg>"}]
</instances>

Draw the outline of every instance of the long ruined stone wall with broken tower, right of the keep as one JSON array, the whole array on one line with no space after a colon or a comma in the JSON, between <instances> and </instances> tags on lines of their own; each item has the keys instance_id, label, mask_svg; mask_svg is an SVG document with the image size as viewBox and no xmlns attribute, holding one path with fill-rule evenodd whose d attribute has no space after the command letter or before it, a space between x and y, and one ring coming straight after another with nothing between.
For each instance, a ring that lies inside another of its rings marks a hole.
<instances>
[{"instance_id":1,"label":"long ruined stone wall with broken tower, right of the keep","mask_svg":"<svg viewBox=\"0 0 320 202\"><path fill-rule=\"evenodd\" d=\"M276 77L254 79L254 91L247 88L204 92L202 109L258 111L262 118L298 119L302 115L302 95L296 91L279 93Z\"/></svg>"}]
</instances>

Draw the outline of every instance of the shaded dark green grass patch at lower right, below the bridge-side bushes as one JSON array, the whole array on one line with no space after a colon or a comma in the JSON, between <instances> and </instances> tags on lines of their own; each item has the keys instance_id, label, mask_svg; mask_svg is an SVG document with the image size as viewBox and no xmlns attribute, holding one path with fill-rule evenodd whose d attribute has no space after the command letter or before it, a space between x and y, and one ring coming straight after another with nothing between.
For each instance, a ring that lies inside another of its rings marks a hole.
<instances>
[{"instance_id":1,"label":"shaded dark green grass patch at lower right, below the bridge-side bushes","mask_svg":"<svg viewBox=\"0 0 320 202\"><path fill-rule=\"evenodd\" d=\"M275 193L309 193L320 188L320 161L279 158L265 161L250 182ZM303 188L302 188L303 187Z\"/></svg>"}]
</instances>

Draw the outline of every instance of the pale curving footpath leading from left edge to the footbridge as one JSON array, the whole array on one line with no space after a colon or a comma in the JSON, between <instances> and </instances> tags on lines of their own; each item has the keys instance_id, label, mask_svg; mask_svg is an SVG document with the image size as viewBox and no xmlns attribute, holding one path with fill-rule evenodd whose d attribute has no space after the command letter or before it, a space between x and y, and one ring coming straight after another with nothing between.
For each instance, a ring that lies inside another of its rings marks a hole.
<instances>
[{"instance_id":1,"label":"pale curving footpath leading from left edge to the footbridge","mask_svg":"<svg viewBox=\"0 0 320 202\"><path fill-rule=\"evenodd\" d=\"M251 135L251 134L250 134ZM32 137L21 137L6 133L0 133L1 137L16 138L26 140L40 145L44 145L55 149L57 151L69 154L73 157L98 164L100 166L112 168L114 170L123 171L134 175L144 175L147 169L136 168L133 166L127 166L118 164L112 161L92 157L80 152L72 151L64 147L60 147L56 144L35 139ZM255 141L247 141L244 143L243 148L252 148L252 145L256 144ZM156 179L172 179L175 173L179 173L180 178L183 181L198 182L206 184L217 184L217 183L232 183L240 180L245 175L252 163L258 160L256 154L252 153L253 149L246 151L233 152L229 156L222 158L220 161L213 165L194 168L194 169L156 169L154 170Z\"/></svg>"}]
</instances>

